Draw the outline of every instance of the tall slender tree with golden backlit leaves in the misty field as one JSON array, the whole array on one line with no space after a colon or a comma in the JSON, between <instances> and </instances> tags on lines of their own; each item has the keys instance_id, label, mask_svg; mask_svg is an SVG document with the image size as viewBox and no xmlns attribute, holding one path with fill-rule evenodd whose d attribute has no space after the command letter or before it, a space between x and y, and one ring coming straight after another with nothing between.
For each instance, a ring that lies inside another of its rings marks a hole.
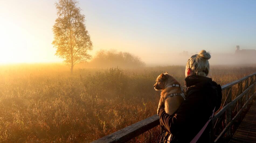
<instances>
[{"instance_id":1,"label":"tall slender tree with golden backlit leaves in the misty field","mask_svg":"<svg viewBox=\"0 0 256 143\"><path fill-rule=\"evenodd\" d=\"M85 16L76 0L59 0L55 3L57 19L53 25L53 46L57 48L57 56L70 65L73 73L74 65L91 59L88 50L92 50L90 35L85 27Z\"/></svg>"}]
</instances>

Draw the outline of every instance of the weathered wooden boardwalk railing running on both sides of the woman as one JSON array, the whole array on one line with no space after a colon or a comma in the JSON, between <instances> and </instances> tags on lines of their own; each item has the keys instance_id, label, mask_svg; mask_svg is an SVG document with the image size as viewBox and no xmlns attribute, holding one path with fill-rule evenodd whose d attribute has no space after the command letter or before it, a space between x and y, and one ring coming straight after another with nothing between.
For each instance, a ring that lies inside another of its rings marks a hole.
<instances>
[{"instance_id":1,"label":"weathered wooden boardwalk railing running on both sides of the woman","mask_svg":"<svg viewBox=\"0 0 256 143\"><path fill-rule=\"evenodd\" d=\"M222 86L222 108L212 119L211 142L227 142L232 137L236 129L234 123L241 122L242 114L245 114L251 106L256 94L255 77L256 73ZM127 142L157 125L159 125L159 116L153 115L92 143Z\"/></svg>"}]
</instances>

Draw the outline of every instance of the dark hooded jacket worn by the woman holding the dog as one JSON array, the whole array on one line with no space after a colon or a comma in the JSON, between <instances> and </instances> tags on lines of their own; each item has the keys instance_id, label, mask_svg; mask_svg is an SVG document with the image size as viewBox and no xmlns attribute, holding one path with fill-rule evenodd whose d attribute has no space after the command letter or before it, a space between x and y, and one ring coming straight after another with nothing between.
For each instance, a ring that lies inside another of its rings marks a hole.
<instances>
[{"instance_id":1,"label":"dark hooded jacket worn by the woman holding the dog","mask_svg":"<svg viewBox=\"0 0 256 143\"><path fill-rule=\"evenodd\" d=\"M215 111L220 108L222 100L221 86L212 81L212 78L189 75L185 78L186 100L173 115L160 109L160 125L165 131L173 135L171 143L190 142L202 129ZM197 142L209 142L211 123Z\"/></svg>"}]
</instances>

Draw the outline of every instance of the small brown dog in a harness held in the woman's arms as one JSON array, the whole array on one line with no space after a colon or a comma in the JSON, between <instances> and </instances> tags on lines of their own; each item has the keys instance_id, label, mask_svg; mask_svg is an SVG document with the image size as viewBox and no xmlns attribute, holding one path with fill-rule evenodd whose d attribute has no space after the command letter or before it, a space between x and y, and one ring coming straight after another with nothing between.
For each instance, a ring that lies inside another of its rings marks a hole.
<instances>
[{"instance_id":1,"label":"small brown dog in a harness held in the woman's arms","mask_svg":"<svg viewBox=\"0 0 256 143\"><path fill-rule=\"evenodd\" d=\"M172 115L184 101L184 92L179 82L174 77L168 75L168 73L160 74L153 87L156 91L162 91L157 115L159 115L161 107L164 107L167 114Z\"/></svg>"}]
</instances>

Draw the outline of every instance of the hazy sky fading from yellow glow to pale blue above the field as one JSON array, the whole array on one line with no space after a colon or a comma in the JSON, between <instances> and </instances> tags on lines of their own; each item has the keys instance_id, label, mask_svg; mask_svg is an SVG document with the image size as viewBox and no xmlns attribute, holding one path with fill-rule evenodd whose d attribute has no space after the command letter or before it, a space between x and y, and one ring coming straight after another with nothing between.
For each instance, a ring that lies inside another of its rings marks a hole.
<instances>
[{"instance_id":1,"label":"hazy sky fading from yellow glow to pale blue above the field","mask_svg":"<svg viewBox=\"0 0 256 143\"><path fill-rule=\"evenodd\" d=\"M0 0L0 63L62 61L51 45L54 2ZM117 49L150 63L184 50L234 52L236 45L256 49L256 1L79 3L94 45L92 54Z\"/></svg>"}]
</instances>

